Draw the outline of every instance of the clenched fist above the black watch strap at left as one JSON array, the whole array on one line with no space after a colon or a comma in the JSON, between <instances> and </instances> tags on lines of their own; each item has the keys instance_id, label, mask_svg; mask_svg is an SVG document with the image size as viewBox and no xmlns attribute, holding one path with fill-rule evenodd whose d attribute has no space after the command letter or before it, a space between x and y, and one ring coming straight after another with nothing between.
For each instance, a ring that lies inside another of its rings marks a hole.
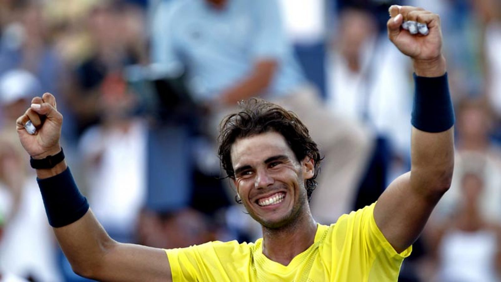
<instances>
[{"instance_id":1,"label":"clenched fist above the black watch strap at left","mask_svg":"<svg viewBox=\"0 0 501 282\"><path fill-rule=\"evenodd\" d=\"M25 129L28 121L37 128L34 135ZM31 107L18 118L16 129L19 140L28 154L34 159L43 159L61 151L59 139L62 124L63 115L56 109L56 98L50 93L45 93L42 98L33 98Z\"/></svg>"}]
</instances>

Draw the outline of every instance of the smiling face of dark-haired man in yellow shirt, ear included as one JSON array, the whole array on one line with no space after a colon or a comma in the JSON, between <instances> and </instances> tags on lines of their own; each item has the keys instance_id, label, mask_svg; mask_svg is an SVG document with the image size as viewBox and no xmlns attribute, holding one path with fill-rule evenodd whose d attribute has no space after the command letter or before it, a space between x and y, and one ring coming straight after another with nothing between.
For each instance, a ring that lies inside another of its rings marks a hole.
<instances>
[{"instance_id":1,"label":"smiling face of dark-haired man in yellow shirt, ear included","mask_svg":"<svg viewBox=\"0 0 501 282\"><path fill-rule=\"evenodd\" d=\"M250 216L263 226L280 228L309 214L305 179L314 175L313 160L298 161L281 134L236 140L231 162L236 191Z\"/></svg>"}]
</instances>

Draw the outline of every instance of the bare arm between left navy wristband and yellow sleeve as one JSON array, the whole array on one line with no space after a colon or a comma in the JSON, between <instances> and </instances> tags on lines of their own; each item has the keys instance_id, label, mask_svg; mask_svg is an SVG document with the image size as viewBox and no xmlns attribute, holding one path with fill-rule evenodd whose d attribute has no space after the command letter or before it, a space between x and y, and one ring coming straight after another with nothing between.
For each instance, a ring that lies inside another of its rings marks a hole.
<instances>
[{"instance_id":1,"label":"bare arm between left navy wristband and yellow sleeve","mask_svg":"<svg viewBox=\"0 0 501 282\"><path fill-rule=\"evenodd\" d=\"M89 211L76 222L54 228L73 271L99 281L171 281L163 249L119 243Z\"/></svg>"}]
</instances>

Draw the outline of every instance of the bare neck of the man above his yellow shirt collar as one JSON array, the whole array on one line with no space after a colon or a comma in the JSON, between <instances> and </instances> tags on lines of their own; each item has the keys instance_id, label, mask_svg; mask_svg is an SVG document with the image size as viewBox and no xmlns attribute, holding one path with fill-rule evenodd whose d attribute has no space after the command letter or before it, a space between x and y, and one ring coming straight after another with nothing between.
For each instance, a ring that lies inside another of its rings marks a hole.
<instances>
[{"instance_id":1,"label":"bare neck of the man above his yellow shirt collar","mask_svg":"<svg viewBox=\"0 0 501 282\"><path fill-rule=\"evenodd\" d=\"M296 255L313 244L316 233L317 223L309 211L284 228L263 226L263 254L280 264L289 265Z\"/></svg>"}]
</instances>

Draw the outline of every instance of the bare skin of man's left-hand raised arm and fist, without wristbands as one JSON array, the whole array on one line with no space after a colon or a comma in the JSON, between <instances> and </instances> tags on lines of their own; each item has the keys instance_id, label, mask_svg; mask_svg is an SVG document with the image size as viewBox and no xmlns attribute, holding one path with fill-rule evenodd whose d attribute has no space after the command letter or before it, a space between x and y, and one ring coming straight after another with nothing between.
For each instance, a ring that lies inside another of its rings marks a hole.
<instances>
[{"instance_id":1,"label":"bare skin of man's left-hand raised arm and fist, without wristbands","mask_svg":"<svg viewBox=\"0 0 501 282\"><path fill-rule=\"evenodd\" d=\"M42 123L40 117L46 116ZM31 120L37 133L30 135L24 124ZM59 139L63 116L56 109L56 99L46 93L35 97L32 106L17 120L19 139L34 159L55 155L61 150ZM38 169L40 179L65 171L62 161L52 169ZM119 243L110 238L89 209L79 220L54 228L63 252L73 270L99 281L171 281L167 255L163 249Z\"/></svg>"}]
</instances>

